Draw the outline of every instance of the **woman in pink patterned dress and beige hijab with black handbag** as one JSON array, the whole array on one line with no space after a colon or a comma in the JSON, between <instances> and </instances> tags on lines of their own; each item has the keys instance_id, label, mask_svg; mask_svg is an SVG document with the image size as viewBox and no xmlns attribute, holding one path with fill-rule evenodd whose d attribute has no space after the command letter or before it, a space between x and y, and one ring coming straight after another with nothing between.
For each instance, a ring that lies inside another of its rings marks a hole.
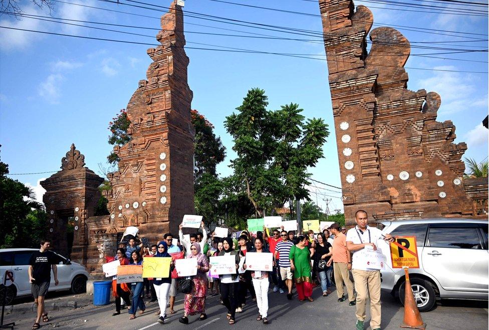
<instances>
[{"instance_id":1,"label":"woman in pink patterned dress and beige hijab with black handbag","mask_svg":"<svg viewBox=\"0 0 489 330\"><path fill-rule=\"evenodd\" d=\"M192 291L185 294L184 312L179 319L180 323L188 324L188 315L200 313L199 320L207 318L205 314L205 295L207 294L207 271L209 271L209 260L200 251L200 244L193 242L190 245L189 258L197 259L197 274L192 276Z\"/></svg>"}]
</instances>

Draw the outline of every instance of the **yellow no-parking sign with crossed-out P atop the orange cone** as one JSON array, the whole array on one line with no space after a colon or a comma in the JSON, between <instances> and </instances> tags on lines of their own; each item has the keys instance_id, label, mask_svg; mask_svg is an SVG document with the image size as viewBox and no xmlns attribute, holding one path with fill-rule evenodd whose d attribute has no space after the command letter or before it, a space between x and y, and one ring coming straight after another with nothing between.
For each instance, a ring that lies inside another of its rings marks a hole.
<instances>
[{"instance_id":1,"label":"yellow no-parking sign with crossed-out P atop the orange cone","mask_svg":"<svg viewBox=\"0 0 489 330\"><path fill-rule=\"evenodd\" d=\"M418 247L416 236L396 236L390 243L392 268L419 268Z\"/></svg>"}]
</instances>

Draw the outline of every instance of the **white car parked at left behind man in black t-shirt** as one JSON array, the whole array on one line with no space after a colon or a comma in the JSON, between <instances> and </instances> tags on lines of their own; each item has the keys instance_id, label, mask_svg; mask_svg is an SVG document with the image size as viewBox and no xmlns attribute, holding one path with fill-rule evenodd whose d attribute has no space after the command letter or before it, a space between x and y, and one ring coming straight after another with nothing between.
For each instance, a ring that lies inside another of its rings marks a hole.
<instances>
[{"instance_id":1,"label":"white car parked at left behind man in black t-shirt","mask_svg":"<svg viewBox=\"0 0 489 330\"><path fill-rule=\"evenodd\" d=\"M29 283L29 259L37 248L2 248L0 249L0 275L1 283L7 270L14 273L14 297L31 294L31 283ZM58 280L54 284L54 276L51 271L51 283L49 291L61 291L70 289L73 293L85 292L87 286L88 272L85 266L73 262L68 258L54 252L59 257Z\"/></svg>"}]
</instances>

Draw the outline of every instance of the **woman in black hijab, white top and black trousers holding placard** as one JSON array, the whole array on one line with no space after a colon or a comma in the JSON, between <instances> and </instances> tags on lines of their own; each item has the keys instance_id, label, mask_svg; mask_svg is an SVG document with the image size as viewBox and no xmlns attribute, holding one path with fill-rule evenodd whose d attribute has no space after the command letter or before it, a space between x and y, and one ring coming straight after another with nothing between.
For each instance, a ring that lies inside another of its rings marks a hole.
<instances>
[{"instance_id":1,"label":"woman in black hijab, white top and black trousers holding placard","mask_svg":"<svg viewBox=\"0 0 489 330\"><path fill-rule=\"evenodd\" d=\"M223 250L219 252L219 256L222 255L234 255L234 261L236 263L236 272L234 274L219 275L221 279L221 297L222 303L227 308L226 318L229 320L229 324L234 324L234 315L236 312L236 306L238 301L238 282L239 277L237 274L237 268L239 265L239 253L232 248L233 239L231 237L225 237L222 240Z\"/></svg>"}]
</instances>

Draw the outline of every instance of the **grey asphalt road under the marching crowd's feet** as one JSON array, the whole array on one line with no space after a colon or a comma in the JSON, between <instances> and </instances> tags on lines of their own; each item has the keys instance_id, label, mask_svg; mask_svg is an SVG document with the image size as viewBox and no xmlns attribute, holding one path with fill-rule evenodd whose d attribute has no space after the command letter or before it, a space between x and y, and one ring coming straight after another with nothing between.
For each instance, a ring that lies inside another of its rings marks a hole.
<instances>
[{"instance_id":1,"label":"grey asphalt road under the marching crowd's feet","mask_svg":"<svg viewBox=\"0 0 489 330\"><path fill-rule=\"evenodd\" d=\"M115 305L93 306L89 296L70 296L69 299L85 299L85 306L74 309L49 311L50 321L44 323L42 328L73 328L73 329L159 329L170 327L172 329L220 329L229 327L226 320L225 307L219 304L218 296L207 298L206 313L208 318L197 320L198 315L190 316L188 325L178 322L182 316L183 295L177 296L176 314L169 315L165 324L156 322L158 316L154 315L158 306L156 302L147 303L143 315L137 315L129 320L129 314L122 313L112 316ZM313 302L300 302L294 295L293 300L287 300L285 294L269 291L269 321L268 325L257 321L258 308L256 302L248 299L247 306L242 313L236 313L236 323L233 328L283 328L283 329L354 329L355 306L349 306L348 300L337 302L336 292L327 297L321 295L321 289L316 287L313 293ZM59 298L58 298L59 299ZM49 300L48 300L49 301ZM79 303L79 305L82 305ZM368 310L368 306L367 306ZM382 328L398 329L403 320L403 307L390 296L382 294ZM367 316L369 312L367 312ZM432 311L421 314L428 329L487 329L488 309L487 301L443 301ZM35 313L14 312L7 315L4 322L16 321L16 328L30 329L34 323ZM370 329L369 317L365 321L365 329Z\"/></svg>"}]
</instances>

